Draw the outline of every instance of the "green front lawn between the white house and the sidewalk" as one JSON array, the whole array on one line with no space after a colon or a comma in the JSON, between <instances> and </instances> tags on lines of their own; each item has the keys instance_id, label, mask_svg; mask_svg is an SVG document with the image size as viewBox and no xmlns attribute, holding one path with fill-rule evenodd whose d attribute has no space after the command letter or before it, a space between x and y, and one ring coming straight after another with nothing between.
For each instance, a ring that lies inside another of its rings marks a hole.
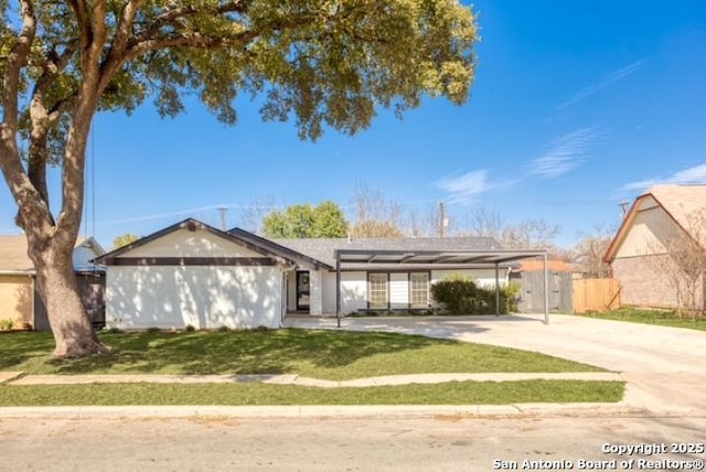
<instances>
[{"instance_id":1,"label":"green front lawn between the white house and the sidewalk","mask_svg":"<svg viewBox=\"0 0 706 472\"><path fill-rule=\"evenodd\" d=\"M345 380L424 373L601 372L544 354L394 333L322 330L100 334L111 354L51 358L47 333L0 335L0 371L28 374L299 374Z\"/></svg>"}]
</instances>

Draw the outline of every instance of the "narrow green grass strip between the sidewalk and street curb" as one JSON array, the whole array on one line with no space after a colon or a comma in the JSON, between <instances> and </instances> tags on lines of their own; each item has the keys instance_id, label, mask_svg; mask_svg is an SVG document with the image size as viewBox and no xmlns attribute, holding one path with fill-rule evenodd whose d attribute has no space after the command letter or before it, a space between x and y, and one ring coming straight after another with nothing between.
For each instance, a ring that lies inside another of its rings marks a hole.
<instances>
[{"instance_id":1,"label":"narrow green grass strip between the sidewalk and street curb","mask_svg":"<svg viewBox=\"0 0 706 472\"><path fill-rule=\"evenodd\" d=\"M614 403L622 382L449 382L364 388L267 384L89 384L0 386L0 406L119 405L506 405Z\"/></svg>"}]
</instances>

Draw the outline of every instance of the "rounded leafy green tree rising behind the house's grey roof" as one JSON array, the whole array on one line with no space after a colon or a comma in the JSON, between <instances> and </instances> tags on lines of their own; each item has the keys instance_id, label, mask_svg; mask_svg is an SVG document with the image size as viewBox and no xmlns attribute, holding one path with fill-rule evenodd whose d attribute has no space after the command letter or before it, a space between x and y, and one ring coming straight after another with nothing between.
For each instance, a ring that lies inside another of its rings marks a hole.
<instances>
[{"instance_id":1,"label":"rounded leafy green tree rising behind the house's grey roof","mask_svg":"<svg viewBox=\"0 0 706 472\"><path fill-rule=\"evenodd\" d=\"M347 222L334 202L318 206L291 205L263 218L263 232L270 238L345 237Z\"/></svg>"}]
</instances>

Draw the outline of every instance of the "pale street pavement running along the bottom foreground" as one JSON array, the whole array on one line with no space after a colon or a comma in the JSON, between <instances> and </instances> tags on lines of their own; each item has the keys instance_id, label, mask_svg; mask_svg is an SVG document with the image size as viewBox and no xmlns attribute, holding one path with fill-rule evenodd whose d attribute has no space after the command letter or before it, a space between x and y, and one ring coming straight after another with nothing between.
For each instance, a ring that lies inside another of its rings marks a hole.
<instances>
[{"instance_id":1,"label":"pale street pavement running along the bottom foreground","mask_svg":"<svg viewBox=\"0 0 706 472\"><path fill-rule=\"evenodd\" d=\"M638 461L703 465L696 447L672 449L704 431L703 417L1 419L0 470L648 470Z\"/></svg>"}]
</instances>

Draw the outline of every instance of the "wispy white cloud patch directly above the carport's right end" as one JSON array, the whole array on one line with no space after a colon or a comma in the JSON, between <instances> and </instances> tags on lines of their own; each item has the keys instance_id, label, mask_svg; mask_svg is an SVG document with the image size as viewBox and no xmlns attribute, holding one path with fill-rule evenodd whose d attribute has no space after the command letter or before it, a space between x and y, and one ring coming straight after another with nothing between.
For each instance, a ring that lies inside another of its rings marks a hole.
<instances>
[{"instance_id":1,"label":"wispy white cloud patch directly above the carport's right end","mask_svg":"<svg viewBox=\"0 0 706 472\"><path fill-rule=\"evenodd\" d=\"M556 178L569 172L579 164L598 136L592 127L588 127L555 139L546 154L530 162L527 172L545 178Z\"/></svg>"}]
</instances>

